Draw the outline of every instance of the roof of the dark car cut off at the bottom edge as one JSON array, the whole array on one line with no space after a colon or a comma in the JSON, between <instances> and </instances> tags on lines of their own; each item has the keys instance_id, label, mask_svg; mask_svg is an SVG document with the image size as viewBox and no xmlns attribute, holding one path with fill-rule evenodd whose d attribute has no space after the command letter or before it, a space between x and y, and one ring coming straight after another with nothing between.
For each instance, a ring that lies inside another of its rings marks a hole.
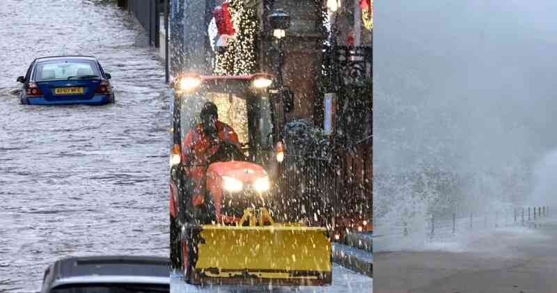
<instances>
[{"instance_id":1,"label":"roof of the dark car cut off at the bottom edge","mask_svg":"<svg viewBox=\"0 0 557 293\"><path fill-rule=\"evenodd\" d=\"M89 283L169 284L168 258L106 255L63 258L45 271L45 286ZM48 291L47 290L47 291Z\"/></svg>"}]
</instances>

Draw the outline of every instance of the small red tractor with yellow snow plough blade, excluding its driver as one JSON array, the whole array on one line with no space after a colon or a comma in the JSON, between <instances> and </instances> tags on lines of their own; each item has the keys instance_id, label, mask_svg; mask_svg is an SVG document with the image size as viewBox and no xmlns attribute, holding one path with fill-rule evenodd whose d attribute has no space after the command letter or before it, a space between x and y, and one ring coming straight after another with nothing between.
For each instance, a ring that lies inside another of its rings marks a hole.
<instances>
[{"instance_id":1,"label":"small red tractor with yellow snow plough blade, excluding its driver","mask_svg":"<svg viewBox=\"0 0 557 293\"><path fill-rule=\"evenodd\" d=\"M274 182L284 156L284 109L271 84L269 75L253 74L182 76L173 85L171 262L188 283L331 283L327 229L290 222L283 214L289 199ZM234 129L238 143L221 140L210 157L192 160L185 140L197 131L207 101ZM201 178L201 200L194 196L200 191L194 174Z\"/></svg>"}]
</instances>

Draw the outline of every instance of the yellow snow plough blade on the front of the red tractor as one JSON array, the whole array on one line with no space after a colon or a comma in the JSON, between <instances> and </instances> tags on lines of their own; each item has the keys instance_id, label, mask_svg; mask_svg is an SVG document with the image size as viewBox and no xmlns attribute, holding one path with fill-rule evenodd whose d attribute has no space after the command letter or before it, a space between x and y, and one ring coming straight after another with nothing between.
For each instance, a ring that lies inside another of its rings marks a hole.
<instances>
[{"instance_id":1,"label":"yellow snow plough blade on the front of the red tractor","mask_svg":"<svg viewBox=\"0 0 557 293\"><path fill-rule=\"evenodd\" d=\"M186 262L190 256L195 260L187 272L191 283L330 283L331 248L323 228L273 223L270 218L269 225L257 225L256 211L246 210L249 225L189 227L182 256ZM266 209L257 212L269 216Z\"/></svg>"}]
</instances>

